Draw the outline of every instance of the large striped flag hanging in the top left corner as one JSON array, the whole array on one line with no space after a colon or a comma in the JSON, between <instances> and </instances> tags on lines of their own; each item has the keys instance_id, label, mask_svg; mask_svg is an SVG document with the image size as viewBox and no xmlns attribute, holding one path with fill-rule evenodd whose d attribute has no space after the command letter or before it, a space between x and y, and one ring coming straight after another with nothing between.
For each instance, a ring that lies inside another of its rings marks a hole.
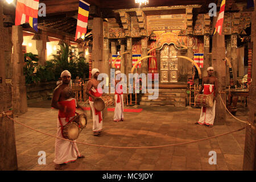
<instances>
[{"instance_id":1,"label":"large striped flag hanging in the top left corner","mask_svg":"<svg viewBox=\"0 0 256 182\"><path fill-rule=\"evenodd\" d=\"M39 0L18 0L15 13L15 25L29 23L38 31Z\"/></svg>"}]
</instances>

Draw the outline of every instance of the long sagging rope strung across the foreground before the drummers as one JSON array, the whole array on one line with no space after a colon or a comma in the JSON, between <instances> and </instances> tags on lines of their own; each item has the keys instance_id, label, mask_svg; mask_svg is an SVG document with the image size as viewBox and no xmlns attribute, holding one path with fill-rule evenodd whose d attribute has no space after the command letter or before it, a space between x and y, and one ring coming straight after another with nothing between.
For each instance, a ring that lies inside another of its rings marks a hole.
<instances>
[{"instance_id":1,"label":"long sagging rope strung across the foreground before the drummers","mask_svg":"<svg viewBox=\"0 0 256 182\"><path fill-rule=\"evenodd\" d=\"M224 133L224 134L220 134L220 135L215 135L213 137L208 137L208 138L203 138L203 139L199 139L199 140L193 140L193 141L190 141L190 142L182 142L182 143L174 143L174 144L167 144L167 145L162 145L162 146L145 146L145 147L118 147L118 146L103 146L103 145L100 145L100 144L91 144L91 143L84 143L84 142L77 142L77 141L72 141L72 140L69 140L69 139L65 139L65 138L61 138L61 137L56 137L55 135L51 135L51 134L47 134L47 133L44 133L42 131L39 131L39 130L36 130L36 129L33 129L32 127L30 126L27 126L27 125L24 125L23 123L20 123L18 121L15 121L13 118L10 118L9 115L5 115L7 118L11 119L12 121L16 122L16 123L19 123L19 125L22 125L24 127L27 127L28 129L31 129L31 130L34 130L34 131L37 131L39 133L42 133L44 135L48 135L50 137L54 137L54 138L59 138L59 139L62 139L62 140L67 140L69 142L75 142L75 143L80 143L80 144L85 144L85 145L88 145L88 146L96 146L96 147L108 147L108 148L159 148L159 147L171 147L171 146L178 146L178 145L181 145L181 144L189 144L189 143L195 143L195 142L200 142L200 141L203 141L203 140L208 140L208 139L212 139L212 138L216 138L216 137L221 137L223 135L228 135L228 134L231 134L231 133L234 133L234 132L237 132L237 131L241 131L243 129L245 129L245 127L242 127L241 129L238 129L238 130L234 130L234 131L230 131L228 133Z\"/></svg>"}]
</instances>

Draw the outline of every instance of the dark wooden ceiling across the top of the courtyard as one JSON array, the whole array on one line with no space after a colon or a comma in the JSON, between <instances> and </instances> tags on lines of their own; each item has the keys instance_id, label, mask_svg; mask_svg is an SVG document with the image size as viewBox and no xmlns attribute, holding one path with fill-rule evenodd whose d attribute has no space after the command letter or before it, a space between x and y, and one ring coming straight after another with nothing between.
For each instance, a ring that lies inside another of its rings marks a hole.
<instances>
[{"instance_id":1,"label":"dark wooden ceiling across the top of the courtyard","mask_svg":"<svg viewBox=\"0 0 256 182\"><path fill-rule=\"evenodd\" d=\"M84 0L90 4L89 19L94 16L101 16L102 18L116 18L119 19L119 14L114 10L119 9L138 9L139 5L135 0ZM160 6L179 6L179 5L201 5L200 8L195 9L194 13L208 13L209 3L217 3L218 0L148 0L148 5L141 7L160 7ZM50 27L55 30L64 31L75 35L76 32L76 15L79 7L79 0L40 0L40 3L46 4L46 17L39 17L38 23L42 26ZM234 2L246 3L247 0L226 0L226 9L229 9ZM15 19L15 5L8 5L5 1L3 3L3 13L11 15ZM94 12L94 13L92 13ZM97 13L95 13L97 12ZM133 12L131 12L132 14ZM135 13L135 11L134 11ZM172 10L150 10L144 11L146 15L154 14L184 14L185 9Z\"/></svg>"}]
</instances>

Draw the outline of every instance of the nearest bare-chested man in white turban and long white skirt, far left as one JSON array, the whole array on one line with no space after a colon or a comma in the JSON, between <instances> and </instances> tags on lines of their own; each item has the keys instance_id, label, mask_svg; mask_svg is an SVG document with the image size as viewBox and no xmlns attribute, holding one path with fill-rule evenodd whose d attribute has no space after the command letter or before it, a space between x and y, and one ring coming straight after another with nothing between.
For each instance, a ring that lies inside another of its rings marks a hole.
<instances>
[{"instance_id":1,"label":"nearest bare-chested man in white turban and long white skirt, far left","mask_svg":"<svg viewBox=\"0 0 256 182\"><path fill-rule=\"evenodd\" d=\"M65 70L61 73L60 77L62 78L62 83L53 91L51 106L55 109L59 109L57 137L64 138L62 133L63 126L66 125L73 117L75 117L76 106L81 106L76 104L76 100L73 98L73 90L71 87L69 87L71 73ZM55 159L53 160L56 170L62 169L61 164L75 162L75 160L79 158L84 158L84 156L80 154L75 142L69 142L67 140L56 138Z\"/></svg>"}]
</instances>

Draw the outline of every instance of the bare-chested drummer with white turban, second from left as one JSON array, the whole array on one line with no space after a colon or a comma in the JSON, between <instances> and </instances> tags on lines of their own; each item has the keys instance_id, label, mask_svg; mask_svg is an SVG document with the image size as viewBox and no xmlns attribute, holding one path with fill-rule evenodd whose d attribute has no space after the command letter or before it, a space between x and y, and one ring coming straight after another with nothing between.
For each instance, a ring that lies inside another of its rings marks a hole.
<instances>
[{"instance_id":1,"label":"bare-chested drummer with white turban, second from left","mask_svg":"<svg viewBox=\"0 0 256 182\"><path fill-rule=\"evenodd\" d=\"M98 84L100 81L97 80L100 71L97 68L92 69L92 79L86 84L85 93L89 96L89 104L92 108L92 117L93 117L93 135L100 136L102 131L102 111L98 111L94 108L94 100L96 97L101 97L102 92L98 90Z\"/></svg>"}]
</instances>

